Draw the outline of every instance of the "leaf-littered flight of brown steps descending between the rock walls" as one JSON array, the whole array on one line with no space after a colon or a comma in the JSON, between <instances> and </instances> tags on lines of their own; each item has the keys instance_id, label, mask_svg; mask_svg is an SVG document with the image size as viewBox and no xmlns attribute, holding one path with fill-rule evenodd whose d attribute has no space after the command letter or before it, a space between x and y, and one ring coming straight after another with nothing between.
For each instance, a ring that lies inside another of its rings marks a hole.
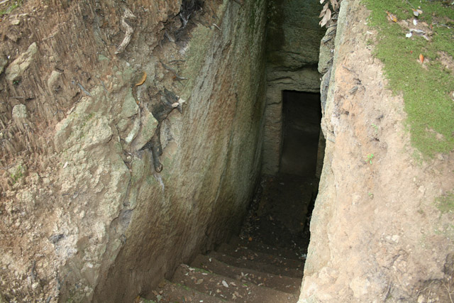
<instances>
[{"instance_id":1,"label":"leaf-littered flight of brown steps descending between the rock walls","mask_svg":"<svg viewBox=\"0 0 454 303\"><path fill-rule=\"evenodd\" d=\"M233 238L190 265L180 265L172 280L140 301L297 302L303 266L292 250Z\"/></svg>"}]
</instances>

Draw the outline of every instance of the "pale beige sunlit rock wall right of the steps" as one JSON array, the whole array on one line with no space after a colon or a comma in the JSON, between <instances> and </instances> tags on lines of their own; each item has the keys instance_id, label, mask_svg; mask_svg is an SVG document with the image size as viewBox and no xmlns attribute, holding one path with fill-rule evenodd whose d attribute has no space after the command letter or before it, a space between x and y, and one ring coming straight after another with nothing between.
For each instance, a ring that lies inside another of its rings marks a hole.
<instances>
[{"instance_id":1,"label":"pale beige sunlit rock wall right of the steps","mask_svg":"<svg viewBox=\"0 0 454 303\"><path fill-rule=\"evenodd\" d=\"M360 2L342 1L322 42L326 153L299 302L450 302L453 154L414 157Z\"/></svg>"}]
</instances>

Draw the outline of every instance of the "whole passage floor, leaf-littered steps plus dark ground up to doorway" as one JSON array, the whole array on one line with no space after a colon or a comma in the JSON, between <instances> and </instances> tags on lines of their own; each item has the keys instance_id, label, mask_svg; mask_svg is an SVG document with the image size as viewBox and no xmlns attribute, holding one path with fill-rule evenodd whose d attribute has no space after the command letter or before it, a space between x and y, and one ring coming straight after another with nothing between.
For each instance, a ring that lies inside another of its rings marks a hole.
<instances>
[{"instance_id":1,"label":"whole passage floor, leaf-littered steps plus dark ground up to doorway","mask_svg":"<svg viewBox=\"0 0 454 303\"><path fill-rule=\"evenodd\" d=\"M240 231L180 265L145 302L297 302L317 180L264 177ZM309 212L309 215L308 215Z\"/></svg>"}]
</instances>

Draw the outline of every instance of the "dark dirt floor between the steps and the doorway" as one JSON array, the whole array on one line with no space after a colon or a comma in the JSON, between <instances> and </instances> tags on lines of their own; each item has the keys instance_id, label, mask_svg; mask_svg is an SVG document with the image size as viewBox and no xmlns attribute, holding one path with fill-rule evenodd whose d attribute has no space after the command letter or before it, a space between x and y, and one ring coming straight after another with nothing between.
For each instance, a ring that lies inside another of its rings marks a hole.
<instances>
[{"instance_id":1,"label":"dark dirt floor between the steps and the doorway","mask_svg":"<svg viewBox=\"0 0 454 303\"><path fill-rule=\"evenodd\" d=\"M318 182L297 175L262 177L240 237L306 254Z\"/></svg>"}]
</instances>

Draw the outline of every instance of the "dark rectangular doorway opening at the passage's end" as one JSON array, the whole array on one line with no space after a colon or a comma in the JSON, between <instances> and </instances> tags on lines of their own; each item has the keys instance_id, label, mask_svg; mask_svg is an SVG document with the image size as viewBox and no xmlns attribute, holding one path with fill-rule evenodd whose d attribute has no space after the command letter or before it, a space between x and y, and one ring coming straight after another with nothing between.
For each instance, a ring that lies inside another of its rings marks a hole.
<instances>
[{"instance_id":1,"label":"dark rectangular doorway opening at the passage's end","mask_svg":"<svg viewBox=\"0 0 454 303\"><path fill-rule=\"evenodd\" d=\"M319 149L320 94L282 91L282 156L279 171L314 177Z\"/></svg>"}]
</instances>

